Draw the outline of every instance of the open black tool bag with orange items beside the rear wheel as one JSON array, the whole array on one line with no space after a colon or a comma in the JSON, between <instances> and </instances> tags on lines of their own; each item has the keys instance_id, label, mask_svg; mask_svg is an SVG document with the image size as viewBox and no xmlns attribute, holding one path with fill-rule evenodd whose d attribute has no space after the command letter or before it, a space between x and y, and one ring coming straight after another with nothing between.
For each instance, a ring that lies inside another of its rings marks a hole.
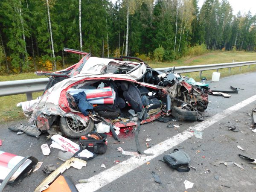
<instances>
[{"instance_id":1,"label":"open black tool bag with orange items beside the rear wheel","mask_svg":"<svg viewBox=\"0 0 256 192\"><path fill-rule=\"evenodd\" d=\"M87 136L87 139L83 139L84 137L79 138L79 143L80 143L80 150L82 149L87 149L88 151L92 153L97 153L97 154L105 154L107 151L107 144L106 134L98 134L100 136L100 139L95 139Z\"/></svg>"}]
</instances>

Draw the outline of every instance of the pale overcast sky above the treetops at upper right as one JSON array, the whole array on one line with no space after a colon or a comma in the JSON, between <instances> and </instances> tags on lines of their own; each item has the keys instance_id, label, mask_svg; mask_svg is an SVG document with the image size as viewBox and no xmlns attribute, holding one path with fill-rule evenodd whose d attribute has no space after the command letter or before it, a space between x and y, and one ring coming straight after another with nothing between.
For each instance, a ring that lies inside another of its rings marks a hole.
<instances>
[{"instance_id":1,"label":"pale overcast sky above the treetops at upper right","mask_svg":"<svg viewBox=\"0 0 256 192\"><path fill-rule=\"evenodd\" d=\"M198 0L198 6L201 8L205 0ZM247 13L249 10L252 15L256 14L256 0L228 0L233 7L233 15L239 11L241 14ZM219 0L221 2L221 0Z\"/></svg>"}]
</instances>

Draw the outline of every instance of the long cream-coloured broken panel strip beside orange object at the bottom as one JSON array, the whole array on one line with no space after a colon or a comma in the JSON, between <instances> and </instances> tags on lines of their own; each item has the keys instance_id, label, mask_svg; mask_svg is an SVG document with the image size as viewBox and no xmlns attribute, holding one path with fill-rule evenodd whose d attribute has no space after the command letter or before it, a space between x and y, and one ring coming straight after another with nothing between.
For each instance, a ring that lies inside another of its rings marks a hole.
<instances>
[{"instance_id":1,"label":"long cream-coloured broken panel strip beside orange object at the bottom","mask_svg":"<svg viewBox=\"0 0 256 192\"><path fill-rule=\"evenodd\" d=\"M66 169L69 169L71 166L76 169L81 169L83 166L86 166L86 161L77 159L75 157L72 157L70 160L67 160L65 163L59 166L58 169L52 172L51 175L46 177L43 180L43 182L40 185L38 185L38 187L35 189L35 192L41 192L47 189L49 187L49 184L52 183L52 181L54 181L55 178L58 177L58 175L63 173Z\"/></svg>"}]
</instances>

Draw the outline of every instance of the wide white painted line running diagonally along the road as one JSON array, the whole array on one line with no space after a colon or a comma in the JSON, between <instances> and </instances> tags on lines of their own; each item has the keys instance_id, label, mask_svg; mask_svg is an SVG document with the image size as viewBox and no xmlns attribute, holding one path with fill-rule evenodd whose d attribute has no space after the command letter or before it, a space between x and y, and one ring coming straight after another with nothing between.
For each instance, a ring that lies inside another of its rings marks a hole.
<instances>
[{"instance_id":1,"label":"wide white painted line running diagonally along the road","mask_svg":"<svg viewBox=\"0 0 256 192\"><path fill-rule=\"evenodd\" d=\"M224 110L221 113L218 113L209 119L198 123L197 125L193 126L192 129L196 129L198 131L203 131L205 128L208 128L209 126L213 125L214 123L218 122L219 120L227 117L231 113L243 108L244 106L250 104L251 102L256 101L256 95L245 99L244 101L233 105L232 107ZM162 143L159 143L157 145L154 145L153 147L145 150L145 153L152 153L153 156L147 156L138 159L137 157L131 157L122 163L116 164L115 166L105 170L104 172L101 172L97 175L94 175L93 177L88 178L89 183L79 183L76 184L77 189L79 192L93 192L96 191L103 186L111 183L112 181L118 179L119 177L125 175L128 172L131 172L132 170L138 168L139 166L143 165L144 163L148 162L149 160L154 159L155 157L159 156L160 154L163 154L164 151L167 151L176 145L182 143L183 141L186 141L190 137L193 136L192 132L189 132L189 129L183 131L180 134L177 134L173 136L172 138L163 141Z\"/></svg>"}]
</instances>

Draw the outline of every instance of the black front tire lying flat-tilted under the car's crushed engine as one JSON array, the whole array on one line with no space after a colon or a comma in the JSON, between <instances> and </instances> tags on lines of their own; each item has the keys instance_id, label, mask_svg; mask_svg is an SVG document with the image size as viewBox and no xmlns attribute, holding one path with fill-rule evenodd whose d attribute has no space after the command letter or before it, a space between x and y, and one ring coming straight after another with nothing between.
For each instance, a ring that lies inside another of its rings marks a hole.
<instances>
[{"instance_id":1,"label":"black front tire lying flat-tilted under the car's crushed engine","mask_svg":"<svg viewBox=\"0 0 256 192\"><path fill-rule=\"evenodd\" d=\"M172 116L185 121L196 121L198 119L198 112L188 111L174 106L172 109Z\"/></svg>"}]
</instances>

